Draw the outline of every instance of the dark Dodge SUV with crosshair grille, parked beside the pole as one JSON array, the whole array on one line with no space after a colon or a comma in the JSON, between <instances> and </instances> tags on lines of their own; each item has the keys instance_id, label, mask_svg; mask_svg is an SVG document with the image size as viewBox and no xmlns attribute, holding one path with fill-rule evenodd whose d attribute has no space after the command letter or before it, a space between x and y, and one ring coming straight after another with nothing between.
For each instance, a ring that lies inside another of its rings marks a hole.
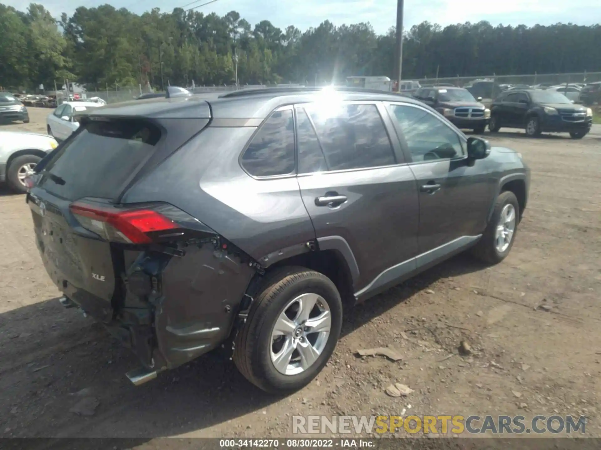
<instances>
[{"instance_id":1,"label":"dark Dodge SUV with crosshair grille, parked beside the pole","mask_svg":"<svg viewBox=\"0 0 601 450\"><path fill-rule=\"evenodd\" d=\"M433 107L457 128L468 128L474 133L484 133L490 118L490 109L480 103L482 98L474 98L463 88L432 86L418 89L413 97Z\"/></svg>"}]
</instances>

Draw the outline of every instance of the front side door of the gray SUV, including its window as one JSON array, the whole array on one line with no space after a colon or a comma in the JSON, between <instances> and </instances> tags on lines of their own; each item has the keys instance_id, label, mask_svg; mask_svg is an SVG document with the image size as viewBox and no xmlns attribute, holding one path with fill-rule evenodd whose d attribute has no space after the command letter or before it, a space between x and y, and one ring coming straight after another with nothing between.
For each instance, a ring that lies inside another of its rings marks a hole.
<instances>
[{"instance_id":1,"label":"front side door of the gray SUV, including its window","mask_svg":"<svg viewBox=\"0 0 601 450\"><path fill-rule=\"evenodd\" d=\"M490 161L468 166L465 136L445 119L415 104L389 107L417 180L421 262L435 262L486 228L493 167Z\"/></svg>"}]
</instances>

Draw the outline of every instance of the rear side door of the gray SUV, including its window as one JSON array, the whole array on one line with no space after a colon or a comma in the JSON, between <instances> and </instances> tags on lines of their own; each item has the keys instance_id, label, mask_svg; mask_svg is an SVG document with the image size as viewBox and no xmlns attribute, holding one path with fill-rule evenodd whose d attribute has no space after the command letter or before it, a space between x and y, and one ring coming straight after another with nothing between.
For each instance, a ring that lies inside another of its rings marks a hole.
<instances>
[{"instance_id":1,"label":"rear side door of the gray SUV, including its window","mask_svg":"<svg viewBox=\"0 0 601 450\"><path fill-rule=\"evenodd\" d=\"M417 252L418 194L380 103L296 107L297 180L317 238L340 236L350 246L361 296L412 268ZM392 132L392 135L389 133ZM391 139L391 136L394 139Z\"/></svg>"}]
</instances>

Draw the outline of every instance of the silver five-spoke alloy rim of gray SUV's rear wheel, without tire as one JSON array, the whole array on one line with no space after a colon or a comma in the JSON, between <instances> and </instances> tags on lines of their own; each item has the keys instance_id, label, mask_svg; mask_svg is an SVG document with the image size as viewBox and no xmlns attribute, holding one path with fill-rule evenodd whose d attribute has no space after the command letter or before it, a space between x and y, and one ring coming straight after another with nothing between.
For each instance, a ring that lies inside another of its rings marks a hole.
<instances>
[{"instance_id":1,"label":"silver five-spoke alloy rim of gray SUV's rear wheel, without tire","mask_svg":"<svg viewBox=\"0 0 601 450\"><path fill-rule=\"evenodd\" d=\"M273 325L273 367L284 375L296 375L310 368L328 343L331 325L332 314L322 296L305 293L288 302Z\"/></svg>"}]
</instances>

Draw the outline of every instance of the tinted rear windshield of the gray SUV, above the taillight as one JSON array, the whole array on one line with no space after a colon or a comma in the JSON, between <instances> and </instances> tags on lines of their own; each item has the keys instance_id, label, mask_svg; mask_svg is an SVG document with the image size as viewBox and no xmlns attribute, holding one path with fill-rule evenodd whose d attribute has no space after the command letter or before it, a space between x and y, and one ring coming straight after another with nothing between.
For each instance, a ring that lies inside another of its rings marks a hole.
<instances>
[{"instance_id":1,"label":"tinted rear windshield of the gray SUV, above the taillight","mask_svg":"<svg viewBox=\"0 0 601 450\"><path fill-rule=\"evenodd\" d=\"M68 200L112 199L153 154L160 137L156 125L139 119L88 122L48 162L39 185Z\"/></svg>"}]
</instances>

